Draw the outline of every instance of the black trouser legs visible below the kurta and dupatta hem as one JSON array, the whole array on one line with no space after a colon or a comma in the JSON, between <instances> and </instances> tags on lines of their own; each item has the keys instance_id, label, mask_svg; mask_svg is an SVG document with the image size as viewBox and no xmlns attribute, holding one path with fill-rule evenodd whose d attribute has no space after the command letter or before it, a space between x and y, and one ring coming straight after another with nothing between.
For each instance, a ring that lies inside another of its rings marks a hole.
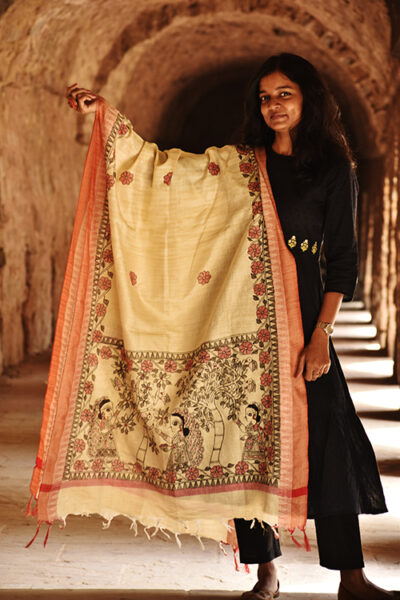
<instances>
[{"instance_id":1,"label":"black trouser legs visible below the kurta and dupatta hem","mask_svg":"<svg viewBox=\"0 0 400 600\"><path fill-rule=\"evenodd\" d=\"M279 540L271 527L255 521L235 519L240 562L270 562L281 556ZM315 519L319 561L327 569L362 569L364 567L358 515L337 515Z\"/></svg>"}]
</instances>

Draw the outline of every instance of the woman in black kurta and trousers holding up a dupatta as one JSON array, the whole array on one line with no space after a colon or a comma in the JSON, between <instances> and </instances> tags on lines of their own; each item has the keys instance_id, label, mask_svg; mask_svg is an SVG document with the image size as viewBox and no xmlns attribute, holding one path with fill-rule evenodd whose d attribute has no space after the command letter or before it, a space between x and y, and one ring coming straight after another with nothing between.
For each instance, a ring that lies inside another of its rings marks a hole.
<instances>
[{"instance_id":1,"label":"woman in black kurta and trousers holding up a dupatta","mask_svg":"<svg viewBox=\"0 0 400 600\"><path fill-rule=\"evenodd\" d=\"M67 97L81 113L96 110L89 90L70 86ZM267 149L277 211L296 260L305 339L297 376L303 374L307 385L310 429L308 512L316 519L321 564L341 571L340 598L397 597L373 586L362 571L357 514L384 512L386 506L373 451L329 340L340 303L351 299L356 280L356 183L336 107L310 63L289 54L265 63L250 86L246 135L246 143ZM241 519L236 530L241 560L260 565L259 580L244 597L277 598L273 559L280 550L272 530L267 526L264 533Z\"/></svg>"}]
</instances>

